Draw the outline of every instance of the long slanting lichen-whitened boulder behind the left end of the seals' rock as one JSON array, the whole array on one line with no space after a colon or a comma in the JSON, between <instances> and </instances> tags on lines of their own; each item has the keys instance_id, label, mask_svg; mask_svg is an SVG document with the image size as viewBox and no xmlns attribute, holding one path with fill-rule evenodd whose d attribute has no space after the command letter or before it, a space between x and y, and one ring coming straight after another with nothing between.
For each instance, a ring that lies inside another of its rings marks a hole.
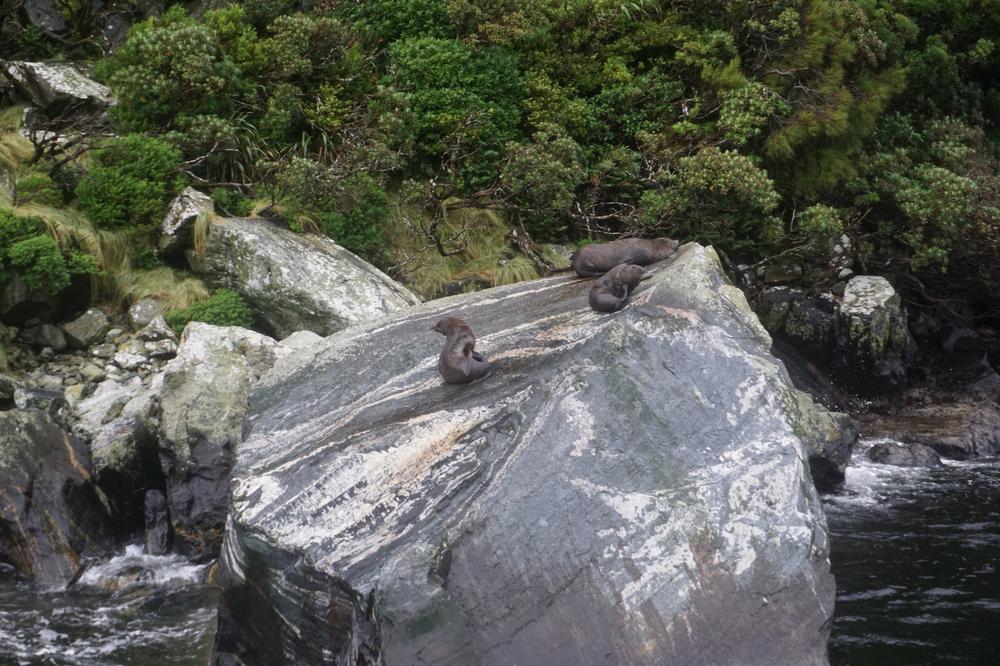
<instances>
[{"instance_id":1,"label":"long slanting lichen-whitened boulder behind the left end of the seals' rock","mask_svg":"<svg viewBox=\"0 0 1000 666\"><path fill-rule=\"evenodd\" d=\"M209 225L195 270L238 291L269 333L330 335L419 303L408 289L328 238L295 234L264 220Z\"/></svg>"}]
</instances>

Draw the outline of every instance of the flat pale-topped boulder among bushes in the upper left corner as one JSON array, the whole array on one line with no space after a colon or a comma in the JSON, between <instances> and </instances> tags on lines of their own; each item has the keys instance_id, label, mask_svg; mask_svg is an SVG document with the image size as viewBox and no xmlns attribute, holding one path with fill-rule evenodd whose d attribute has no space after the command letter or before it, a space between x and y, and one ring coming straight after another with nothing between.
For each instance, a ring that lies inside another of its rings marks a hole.
<instances>
[{"instance_id":1,"label":"flat pale-topped boulder among bushes in the upper left corner","mask_svg":"<svg viewBox=\"0 0 1000 666\"><path fill-rule=\"evenodd\" d=\"M105 109L114 102L110 88L66 63L8 60L0 62L0 73L22 97L50 114L77 104Z\"/></svg>"}]
</instances>

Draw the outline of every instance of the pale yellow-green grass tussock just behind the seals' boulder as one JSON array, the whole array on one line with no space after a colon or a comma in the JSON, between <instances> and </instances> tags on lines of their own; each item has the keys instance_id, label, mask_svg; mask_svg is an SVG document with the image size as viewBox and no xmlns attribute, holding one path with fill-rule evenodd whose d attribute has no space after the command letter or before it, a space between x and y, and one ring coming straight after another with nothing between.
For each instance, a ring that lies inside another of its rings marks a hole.
<instances>
[{"instance_id":1,"label":"pale yellow-green grass tussock just behind the seals' boulder","mask_svg":"<svg viewBox=\"0 0 1000 666\"><path fill-rule=\"evenodd\" d=\"M437 235L448 256L430 236L431 215L419 207L395 207L386 225L386 241L396 273L424 298L442 295L449 284L466 290L495 287L538 277L534 263L510 242L503 215L482 208L443 204Z\"/></svg>"}]
</instances>

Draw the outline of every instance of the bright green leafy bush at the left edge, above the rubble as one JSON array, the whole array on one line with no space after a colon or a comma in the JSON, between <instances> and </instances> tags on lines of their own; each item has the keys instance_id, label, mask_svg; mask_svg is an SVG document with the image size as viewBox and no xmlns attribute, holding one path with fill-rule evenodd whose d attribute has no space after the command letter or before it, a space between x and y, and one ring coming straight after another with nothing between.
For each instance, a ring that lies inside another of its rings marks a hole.
<instances>
[{"instance_id":1,"label":"bright green leafy bush at the left edge, above the rubble","mask_svg":"<svg viewBox=\"0 0 1000 666\"><path fill-rule=\"evenodd\" d=\"M32 289L48 288L53 294L69 286L74 275L93 275L97 260L81 252L63 252L44 223L0 210L0 277L16 269Z\"/></svg>"}]
</instances>

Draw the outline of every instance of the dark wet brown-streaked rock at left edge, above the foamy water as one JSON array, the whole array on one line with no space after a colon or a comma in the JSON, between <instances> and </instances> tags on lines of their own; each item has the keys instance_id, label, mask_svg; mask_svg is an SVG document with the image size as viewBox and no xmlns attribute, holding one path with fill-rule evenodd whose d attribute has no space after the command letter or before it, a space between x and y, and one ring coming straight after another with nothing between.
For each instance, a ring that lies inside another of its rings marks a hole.
<instances>
[{"instance_id":1,"label":"dark wet brown-streaked rock at left edge, above the foamy water","mask_svg":"<svg viewBox=\"0 0 1000 666\"><path fill-rule=\"evenodd\" d=\"M46 586L67 584L110 543L87 447L34 409L0 412L0 555Z\"/></svg>"}]
</instances>

